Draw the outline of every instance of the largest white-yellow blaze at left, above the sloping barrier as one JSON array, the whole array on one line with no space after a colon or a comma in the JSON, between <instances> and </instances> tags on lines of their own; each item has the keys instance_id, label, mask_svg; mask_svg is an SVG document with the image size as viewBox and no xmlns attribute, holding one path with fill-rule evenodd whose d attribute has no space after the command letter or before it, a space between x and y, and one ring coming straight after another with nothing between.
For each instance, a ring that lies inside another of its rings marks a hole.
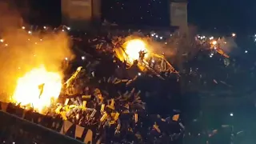
<instances>
[{"instance_id":1,"label":"largest white-yellow blaze at left, above the sloping barrier","mask_svg":"<svg viewBox=\"0 0 256 144\"><path fill-rule=\"evenodd\" d=\"M46 71L45 67L35 68L18 78L12 101L21 106L33 106L38 112L50 106L62 89L61 74Z\"/></svg>"}]
</instances>

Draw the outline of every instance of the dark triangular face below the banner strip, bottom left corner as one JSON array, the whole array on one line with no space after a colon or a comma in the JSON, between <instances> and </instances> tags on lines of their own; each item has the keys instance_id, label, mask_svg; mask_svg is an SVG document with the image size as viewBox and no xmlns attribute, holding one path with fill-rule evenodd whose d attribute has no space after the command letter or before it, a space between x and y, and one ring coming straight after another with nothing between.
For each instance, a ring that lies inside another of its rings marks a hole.
<instances>
[{"instance_id":1,"label":"dark triangular face below the banner strip, bottom left corner","mask_svg":"<svg viewBox=\"0 0 256 144\"><path fill-rule=\"evenodd\" d=\"M0 111L0 143L82 144L32 122Z\"/></svg>"}]
</instances>

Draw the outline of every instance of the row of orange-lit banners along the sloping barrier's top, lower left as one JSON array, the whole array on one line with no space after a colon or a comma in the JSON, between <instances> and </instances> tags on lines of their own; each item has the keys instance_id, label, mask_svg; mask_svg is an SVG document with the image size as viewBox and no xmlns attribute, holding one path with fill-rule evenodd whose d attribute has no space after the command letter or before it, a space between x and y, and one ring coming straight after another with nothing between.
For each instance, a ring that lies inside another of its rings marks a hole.
<instances>
[{"instance_id":1,"label":"row of orange-lit banners along the sloping barrier's top, lower left","mask_svg":"<svg viewBox=\"0 0 256 144\"><path fill-rule=\"evenodd\" d=\"M19 118L34 122L35 124L46 127L50 130L57 131L60 134L69 136L70 138L76 138L84 143L96 143L98 142L97 139L100 139L94 135L93 128L78 126L72 122L63 121L62 118L53 118L52 116L34 113L6 102L0 102L0 110L9 114L14 114Z\"/></svg>"}]
</instances>

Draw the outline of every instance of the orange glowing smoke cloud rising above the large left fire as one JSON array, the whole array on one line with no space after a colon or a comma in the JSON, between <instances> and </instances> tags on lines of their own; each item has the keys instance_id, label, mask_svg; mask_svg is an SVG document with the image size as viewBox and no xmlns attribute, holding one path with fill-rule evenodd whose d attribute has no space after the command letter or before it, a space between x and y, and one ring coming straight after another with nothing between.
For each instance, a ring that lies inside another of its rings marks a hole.
<instances>
[{"instance_id":1,"label":"orange glowing smoke cloud rising above the large left fire","mask_svg":"<svg viewBox=\"0 0 256 144\"><path fill-rule=\"evenodd\" d=\"M42 34L23 30L22 26L25 24L18 10L0 2L0 90L13 90L17 78L34 67L60 71L63 60L73 56L65 32Z\"/></svg>"}]
</instances>

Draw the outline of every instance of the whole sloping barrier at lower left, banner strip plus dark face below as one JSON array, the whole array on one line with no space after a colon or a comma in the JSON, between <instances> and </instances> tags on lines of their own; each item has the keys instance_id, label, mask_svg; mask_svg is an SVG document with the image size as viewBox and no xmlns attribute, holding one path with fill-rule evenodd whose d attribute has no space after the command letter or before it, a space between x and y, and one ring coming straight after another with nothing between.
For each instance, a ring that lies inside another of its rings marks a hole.
<instances>
[{"instance_id":1,"label":"whole sloping barrier at lower left, banner strip plus dark face below","mask_svg":"<svg viewBox=\"0 0 256 144\"><path fill-rule=\"evenodd\" d=\"M13 134L25 139L31 135L31 140L34 138L41 143L53 143L53 140L54 143L59 143L55 142L59 140L62 144L97 142L92 130L61 118L26 111L5 102L0 102L0 110L1 138L5 138L5 135L9 138Z\"/></svg>"}]
</instances>

